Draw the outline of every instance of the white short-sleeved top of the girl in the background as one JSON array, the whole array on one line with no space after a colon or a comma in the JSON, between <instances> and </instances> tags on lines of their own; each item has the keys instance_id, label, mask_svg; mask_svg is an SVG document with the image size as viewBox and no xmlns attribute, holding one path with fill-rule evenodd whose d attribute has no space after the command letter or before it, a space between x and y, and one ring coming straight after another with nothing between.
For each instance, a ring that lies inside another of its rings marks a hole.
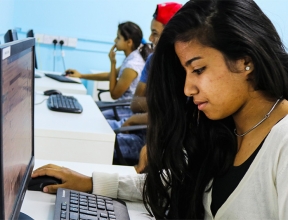
<instances>
[{"instance_id":1,"label":"white short-sleeved top of the girl in the background","mask_svg":"<svg viewBox=\"0 0 288 220\"><path fill-rule=\"evenodd\" d=\"M133 95L136 90L136 86L140 80L140 76L142 73L142 70L144 68L145 61L142 58L141 54L139 53L138 50L134 50L132 53L130 53L125 60L123 61L119 73L118 73L118 79L122 76L124 69L130 68L136 71L137 77L133 80L129 88L124 92L124 94L118 99L118 100L123 100L123 99L132 99Z\"/></svg>"}]
</instances>

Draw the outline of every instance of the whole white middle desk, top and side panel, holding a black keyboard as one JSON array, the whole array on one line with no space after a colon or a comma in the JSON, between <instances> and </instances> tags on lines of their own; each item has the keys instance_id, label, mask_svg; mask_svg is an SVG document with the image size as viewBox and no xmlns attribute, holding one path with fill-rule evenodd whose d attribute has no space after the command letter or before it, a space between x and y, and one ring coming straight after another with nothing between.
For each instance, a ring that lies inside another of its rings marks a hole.
<instances>
[{"instance_id":1,"label":"whole white middle desk, top and side panel, holding a black keyboard","mask_svg":"<svg viewBox=\"0 0 288 220\"><path fill-rule=\"evenodd\" d=\"M81 114L51 111L48 96L35 93L35 157L112 164L114 131L91 96L73 96L83 107Z\"/></svg>"}]
</instances>

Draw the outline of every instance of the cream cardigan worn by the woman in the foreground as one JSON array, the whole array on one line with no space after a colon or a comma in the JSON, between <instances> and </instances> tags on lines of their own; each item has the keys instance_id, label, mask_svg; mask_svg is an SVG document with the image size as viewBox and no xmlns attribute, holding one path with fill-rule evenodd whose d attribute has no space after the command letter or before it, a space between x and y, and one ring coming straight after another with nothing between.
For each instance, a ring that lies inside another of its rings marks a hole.
<instances>
[{"instance_id":1,"label":"cream cardigan worn by the woman in the foreground","mask_svg":"<svg viewBox=\"0 0 288 220\"><path fill-rule=\"evenodd\" d=\"M142 199L145 175L114 174L112 178L108 175L93 173L93 193L132 201ZM205 219L288 219L287 175L288 116L272 128L245 176L215 218L210 210L212 191L204 194Z\"/></svg>"}]
</instances>

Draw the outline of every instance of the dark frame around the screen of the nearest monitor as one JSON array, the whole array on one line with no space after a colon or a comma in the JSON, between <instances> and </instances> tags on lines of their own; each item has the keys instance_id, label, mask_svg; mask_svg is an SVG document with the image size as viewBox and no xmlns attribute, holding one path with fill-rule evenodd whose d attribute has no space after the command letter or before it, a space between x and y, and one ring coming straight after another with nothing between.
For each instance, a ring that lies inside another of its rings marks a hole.
<instances>
[{"instance_id":1,"label":"dark frame around the screen of the nearest monitor","mask_svg":"<svg viewBox=\"0 0 288 220\"><path fill-rule=\"evenodd\" d=\"M23 50L26 50L28 48L32 48L32 53L33 53L33 60L32 60L32 69L31 69L31 120L32 120L32 132L31 132L31 143L32 143L32 155L31 155L31 159L29 161L28 164L28 169L26 170L26 173L24 174L24 181L22 181L22 185L20 187L20 192L17 195L15 204L14 204L14 208L13 208L13 212L10 215L9 219L18 219L20 210L21 210L21 206L25 197L25 193L26 190L28 188L28 183L31 179L31 174L34 168L34 163L35 163L35 154L34 154L34 66L35 66L35 39L34 38L26 38L23 40L17 40L17 41L12 41L9 43L5 43L0 45L0 74L1 74L1 70L2 70L2 55L3 55L3 49L10 47L10 56L17 54ZM0 83L1 82L1 77L0 77ZM0 85L1 85L0 84ZM2 97L2 90L0 90L0 97ZM0 114L2 115L2 107L0 108ZM3 130L3 123L2 123L2 119L0 117L1 120L1 125L0 125L0 144L1 146L3 145L3 137L2 137L2 130ZM1 158L0 158L0 193L1 195L4 195L4 184L3 184L3 152L2 152L2 147L1 147ZM5 218L5 210L4 210L4 196L0 196L0 219L4 219Z\"/></svg>"}]
</instances>

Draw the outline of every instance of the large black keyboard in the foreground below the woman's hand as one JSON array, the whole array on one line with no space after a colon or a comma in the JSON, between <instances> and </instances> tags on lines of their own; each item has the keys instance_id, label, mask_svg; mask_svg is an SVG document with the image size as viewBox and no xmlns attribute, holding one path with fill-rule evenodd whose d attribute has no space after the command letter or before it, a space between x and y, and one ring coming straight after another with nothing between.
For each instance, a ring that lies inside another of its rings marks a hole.
<instances>
[{"instance_id":1,"label":"large black keyboard in the foreground below the woman's hand","mask_svg":"<svg viewBox=\"0 0 288 220\"><path fill-rule=\"evenodd\" d=\"M129 220L127 206L120 199L59 188L54 220Z\"/></svg>"}]
</instances>

